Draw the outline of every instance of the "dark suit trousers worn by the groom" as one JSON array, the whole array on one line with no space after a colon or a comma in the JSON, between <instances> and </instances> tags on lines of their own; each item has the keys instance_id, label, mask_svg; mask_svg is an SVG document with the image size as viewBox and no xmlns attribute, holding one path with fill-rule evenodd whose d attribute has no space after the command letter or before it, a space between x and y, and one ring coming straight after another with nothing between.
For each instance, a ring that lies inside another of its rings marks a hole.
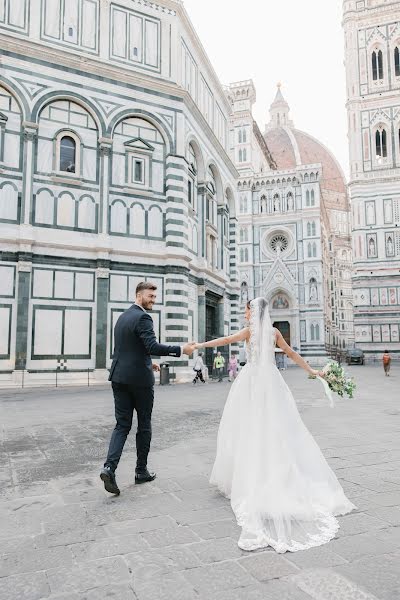
<instances>
[{"instance_id":1,"label":"dark suit trousers worn by the groom","mask_svg":"<svg viewBox=\"0 0 400 600\"><path fill-rule=\"evenodd\" d=\"M147 468L147 456L151 443L151 414L154 402L154 387L138 387L132 384L112 382L114 393L115 420L117 424L112 433L105 467L115 471L126 438L132 427L133 413L136 410L138 427L136 432L136 471Z\"/></svg>"}]
</instances>

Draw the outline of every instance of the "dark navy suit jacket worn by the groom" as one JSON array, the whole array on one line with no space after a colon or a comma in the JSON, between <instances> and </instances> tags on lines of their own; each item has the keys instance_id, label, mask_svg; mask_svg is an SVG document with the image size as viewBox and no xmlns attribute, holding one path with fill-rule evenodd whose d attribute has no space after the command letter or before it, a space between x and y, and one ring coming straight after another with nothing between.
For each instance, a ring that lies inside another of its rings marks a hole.
<instances>
[{"instance_id":1,"label":"dark navy suit jacket worn by the groom","mask_svg":"<svg viewBox=\"0 0 400 600\"><path fill-rule=\"evenodd\" d=\"M119 317L114 329L114 355L109 381L154 385L151 356L180 356L179 346L157 342L153 319L140 306L133 304Z\"/></svg>"}]
</instances>

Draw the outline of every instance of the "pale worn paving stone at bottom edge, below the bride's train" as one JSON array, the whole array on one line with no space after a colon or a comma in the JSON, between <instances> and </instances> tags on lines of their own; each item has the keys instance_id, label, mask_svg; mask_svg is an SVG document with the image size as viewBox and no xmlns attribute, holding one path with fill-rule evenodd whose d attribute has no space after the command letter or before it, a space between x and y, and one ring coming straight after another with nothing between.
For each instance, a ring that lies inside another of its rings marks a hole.
<instances>
[{"instance_id":1,"label":"pale worn paving stone at bottom edge, below the bride's train","mask_svg":"<svg viewBox=\"0 0 400 600\"><path fill-rule=\"evenodd\" d=\"M328 569L302 571L291 581L315 600L378 600L356 583Z\"/></svg>"}]
</instances>

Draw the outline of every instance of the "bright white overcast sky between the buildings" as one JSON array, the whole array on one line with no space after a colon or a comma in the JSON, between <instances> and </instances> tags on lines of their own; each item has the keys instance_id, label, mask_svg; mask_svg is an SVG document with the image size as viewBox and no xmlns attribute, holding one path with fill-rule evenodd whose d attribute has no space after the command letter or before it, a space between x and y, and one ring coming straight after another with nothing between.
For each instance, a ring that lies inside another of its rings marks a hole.
<instances>
[{"instance_id":1,"label":"bright white overcast sky between the buildings","mask_svg":"<svg viewBox=\"0 0 400 600\"><path fill-rule=\"evenodd\" d=\"M348 173L342 0L184 0L223 84L252 79L264 131L282 83L295 127L323 142Z\"/></svg>"}]
</instances>

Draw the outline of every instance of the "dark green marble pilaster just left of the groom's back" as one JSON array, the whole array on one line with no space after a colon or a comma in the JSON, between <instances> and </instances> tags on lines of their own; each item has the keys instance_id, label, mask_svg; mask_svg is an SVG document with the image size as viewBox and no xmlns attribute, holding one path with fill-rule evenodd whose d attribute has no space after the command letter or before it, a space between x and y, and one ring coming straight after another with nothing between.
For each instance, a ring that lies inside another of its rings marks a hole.
<instances>
[{"instance_id":1,"label":"dark green marble pilaster just left of the groom's back","mask_svg":"<svg viewBox=\"0 0 400 600\"><path fill-rule=\"evenodd\" d=\"M109 261L98 260L96 270L96 370L104 370L107 368L107 316L109 278Z\"/></svg>"}]
</instances>

